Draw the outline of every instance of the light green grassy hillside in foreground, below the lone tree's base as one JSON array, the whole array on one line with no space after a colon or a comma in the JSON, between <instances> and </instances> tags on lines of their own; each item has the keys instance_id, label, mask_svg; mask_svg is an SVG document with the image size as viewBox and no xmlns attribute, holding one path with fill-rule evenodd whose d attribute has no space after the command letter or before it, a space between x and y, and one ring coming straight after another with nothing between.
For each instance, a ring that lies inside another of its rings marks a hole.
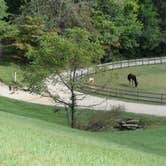
<instances>
[{"instance_id":1,"label":"light green grassy hillside in foreground, below the lone tree's base","mask_svg":"<svg viewBox=\"0 0 166 166\"><path fill-rule=\"evenodd\" d=\"M114 142L114 136L104 133L95 134L72 130L53 123L11 115L0 112L0 161L1 165L114 165L114 166L158 166L165 165L165 147L163 133L166 130L154 132L139 132L142 149L123 145L126 133L121 135L121 141ZM134 135L133 135L134 134ZM136 135L135 145L141 144ZM154 140L154 141L153 141ZM125 140L126 141L126 140ZM133 140L134 141L134 140ZM149 146L150 144L158 146ZM144 152L144 148L146 151ZM149 151L148 151L149 149ZM151 151L151 152L150 152ZM154 151L154 152L152 152ZM160 152L156 154L155 151Z\"/></svg>"}]
</instances>

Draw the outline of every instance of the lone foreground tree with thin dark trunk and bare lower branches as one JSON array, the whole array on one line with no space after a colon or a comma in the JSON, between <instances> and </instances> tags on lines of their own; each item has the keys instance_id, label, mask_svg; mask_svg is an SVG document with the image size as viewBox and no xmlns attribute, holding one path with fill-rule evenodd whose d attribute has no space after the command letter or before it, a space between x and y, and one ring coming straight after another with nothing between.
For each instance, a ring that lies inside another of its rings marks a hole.
<instances>
[{"instance_id":1,"label":"lone foreground tree with thin dark trunk and bare lower branches","mask_svg":"<svg viewBox=\"0 0 166 166\"><path fill-rule=\"evenodd\" d=\"M55 102L63 103L68 109L71 127L75 127L78 88L77 70L100 61L103 50L98 41L80 28L67 29L64 36L49 32L40 37L40 45L28 52L33 62L25 73L29 87L34 91L47 92ZM48 78L52 84L63 84L69 97L62 98L54 94L48 86Z\"/></svg>"}]
</instances>

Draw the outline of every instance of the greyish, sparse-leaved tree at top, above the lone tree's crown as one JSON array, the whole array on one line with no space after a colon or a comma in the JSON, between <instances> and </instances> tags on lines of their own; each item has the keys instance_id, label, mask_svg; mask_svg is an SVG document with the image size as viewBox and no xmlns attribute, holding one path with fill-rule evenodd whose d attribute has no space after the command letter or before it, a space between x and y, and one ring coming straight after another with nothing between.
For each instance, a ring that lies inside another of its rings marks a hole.
<instances>
[{"instance_id":1,"label":"greyish, sparse-leaved tree at top, above the lone tree's crown","mask_svg":"<svg viewBox=\"0 0 166 166\"><path fill-rule=\"evenodd\" d=\"M52 27L64 31L75 26L90 29L90 8L86 0L31 0L25 5L24 15L43 17L48 29Z\"/></svg>"}]
</instances>

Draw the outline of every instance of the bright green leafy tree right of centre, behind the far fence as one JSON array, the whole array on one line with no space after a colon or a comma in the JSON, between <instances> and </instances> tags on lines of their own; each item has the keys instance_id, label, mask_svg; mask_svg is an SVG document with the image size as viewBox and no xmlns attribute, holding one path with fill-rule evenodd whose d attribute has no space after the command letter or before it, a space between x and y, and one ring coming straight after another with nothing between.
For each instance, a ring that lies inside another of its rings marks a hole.
<instances>
[{"instance_id":1,"label":"bright green leafy tree right of centre, behind the far fence","mask_svg":"<svg viewBox=\"0 0 166 166\"><path fill-rule=\"evenodd\" d=\"M137 20L137 1L98 0L93 8L93 20L107 52L106 61L112 59L115 52L138 47L142 24Z\"/></svg>"}]
</instances>

